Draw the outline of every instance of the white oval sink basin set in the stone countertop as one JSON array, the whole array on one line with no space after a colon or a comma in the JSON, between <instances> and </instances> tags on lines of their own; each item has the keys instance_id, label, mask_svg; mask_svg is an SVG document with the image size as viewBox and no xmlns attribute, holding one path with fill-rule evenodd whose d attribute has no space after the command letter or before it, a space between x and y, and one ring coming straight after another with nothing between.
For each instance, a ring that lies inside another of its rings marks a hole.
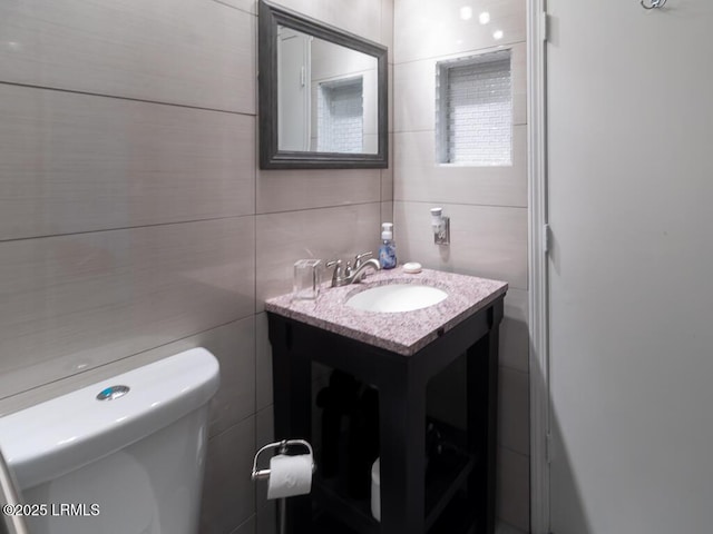
<instances>
[{"instance_id":1,"label":"white oval sink basin set in the stone countertop","mask_svg":"<svg viewBox=\"0 0 713 534\"><path fill-rule=\"evenodd\" d=\"M432 286L389 284L358 293L346 300L346 306L364 312L411 312L433 306L447 296Z\"/></svg>"}]
</instances>

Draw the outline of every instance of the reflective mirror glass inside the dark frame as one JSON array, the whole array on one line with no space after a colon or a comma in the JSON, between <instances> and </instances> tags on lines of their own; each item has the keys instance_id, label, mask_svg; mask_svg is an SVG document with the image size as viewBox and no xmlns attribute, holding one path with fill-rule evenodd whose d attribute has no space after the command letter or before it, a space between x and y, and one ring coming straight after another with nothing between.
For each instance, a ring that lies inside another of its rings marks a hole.
<instances>
[{"instance_id":1,"label":"reflective mirror glass inside the dark frame","mask_svg":"<svg viewBox=\"0 0 713 534\"><path fill-rule=\"evenodd\" d=\"M377 154L377 58L279 26L280 150Z\"/></svg>"}]
</instances>

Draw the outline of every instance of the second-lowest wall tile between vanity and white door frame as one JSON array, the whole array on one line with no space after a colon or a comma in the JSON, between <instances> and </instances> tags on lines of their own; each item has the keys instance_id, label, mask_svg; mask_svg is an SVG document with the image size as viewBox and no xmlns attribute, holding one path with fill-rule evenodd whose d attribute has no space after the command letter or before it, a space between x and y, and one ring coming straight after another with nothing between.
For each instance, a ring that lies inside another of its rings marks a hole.
<instances>
[{"instance_id":1,"label":"second-lowest wall tile between vanity and white door frame","mask_svg":"<svg viewBox=\"0 0 713 534\"><path fill-rule=\"evenodd\" d=\"M500 367L498 443L525 456L530 454L529 375Z\"/></svg>"}]
</instances>

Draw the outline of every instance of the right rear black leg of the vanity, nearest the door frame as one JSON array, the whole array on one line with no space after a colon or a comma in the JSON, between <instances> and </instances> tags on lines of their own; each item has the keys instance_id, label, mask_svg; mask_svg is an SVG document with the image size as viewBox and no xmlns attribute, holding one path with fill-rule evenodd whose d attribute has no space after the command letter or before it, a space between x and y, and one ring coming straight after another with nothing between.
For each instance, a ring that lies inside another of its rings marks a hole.
<instances>
[{"instance_id":1,"label":"right rear black leg of the vanity, nearest the door frame","mask_svg":"<svg viewBox=\"0 0 713 534\"><path fill-rule=\"evenodd\" d=\"M476 534L495 533L498 415L498 325L467 354L468 449L476 465L468 502L476 508Z\"/></svg>"}]
</instances>

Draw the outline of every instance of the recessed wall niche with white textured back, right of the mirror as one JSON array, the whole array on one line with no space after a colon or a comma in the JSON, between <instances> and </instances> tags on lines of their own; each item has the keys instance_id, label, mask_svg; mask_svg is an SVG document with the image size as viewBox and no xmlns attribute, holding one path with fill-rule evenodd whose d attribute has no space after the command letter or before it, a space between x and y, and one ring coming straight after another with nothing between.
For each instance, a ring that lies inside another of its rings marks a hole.
<instances>
[{"instance_id":1,"label":"recessed wall niche with white textured back, right of the mirror","mask_svg":"<svg viewBox=\"0 0 713 534\"><path fill-rule=\"evenodd\" d=\"M512 165L510 50L436 66L437 161Z\"/></svg>"}]
</instances>

